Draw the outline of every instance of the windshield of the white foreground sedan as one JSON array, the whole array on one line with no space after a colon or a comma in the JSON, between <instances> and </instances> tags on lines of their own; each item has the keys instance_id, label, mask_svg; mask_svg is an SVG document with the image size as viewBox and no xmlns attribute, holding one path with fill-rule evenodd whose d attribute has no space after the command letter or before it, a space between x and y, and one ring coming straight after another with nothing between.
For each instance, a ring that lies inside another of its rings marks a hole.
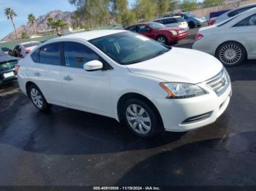
<instances>
[{"instance_id":1,"label":"windshield of the white foreground sedan","mask_svg":"<svg viewBox=\"0 0 256 191\"><path fill-rule=\"evenodd\" d=\"M146 36L129 31L91 39L89 42L122 65L147 61L169 50Z\"/></svg>"}]
</instances>

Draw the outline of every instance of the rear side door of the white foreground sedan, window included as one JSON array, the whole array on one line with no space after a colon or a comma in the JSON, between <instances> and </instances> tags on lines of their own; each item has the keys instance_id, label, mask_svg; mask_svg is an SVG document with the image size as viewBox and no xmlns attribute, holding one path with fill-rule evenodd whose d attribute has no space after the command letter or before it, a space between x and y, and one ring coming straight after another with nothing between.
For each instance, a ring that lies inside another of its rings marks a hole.
<instances>
[{"instance_id":1,"label":"rear side door of the white foreground sedan, window included","mask_svg":"<svg viewBox=\"0 0 256 191\"><path fill-rule=\"evenodd\" d=\"M46 44L32 53L34 67L30 76L50 104L67 105L64 93L61 66L61 44L59 42Z\"/></svg>"}]
</instances>

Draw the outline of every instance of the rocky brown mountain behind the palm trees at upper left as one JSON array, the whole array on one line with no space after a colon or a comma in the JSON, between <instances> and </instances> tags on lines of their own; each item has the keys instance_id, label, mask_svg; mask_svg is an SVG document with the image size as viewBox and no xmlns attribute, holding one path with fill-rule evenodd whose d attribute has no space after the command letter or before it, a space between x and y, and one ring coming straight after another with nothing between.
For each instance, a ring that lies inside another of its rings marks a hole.
<instances>
[{"instance_id":1,"label":"rocky brown mountain behind the palm trees at upper left","mask_svg":"<svg viewBox=\"0 0 256 191\"><path fill-rule=\"evenodd\" d=\"M48 14L39 16L37 18L37 20L35 22L36 30L37 31L46 31L48 29L51 29L47 25L48 17L53 17L54 19L63 20L65 23L67 23L69 26L71 26L71 15L72 15L72 12L62 12L60 10L48 12ZM20 34L22 32L26 32L27 34L29 34L29 36L34 34L34 29L33 29L33 26L31 24L22 25L22 26L20 26L16 29L17 29L18 36L20 36ZM15 40L15 39L16 39L15 32L12 31L12 33L5 36L4 39L1 39L1 41L11 41L11 40Z\"/></svg>"}]
</instances>

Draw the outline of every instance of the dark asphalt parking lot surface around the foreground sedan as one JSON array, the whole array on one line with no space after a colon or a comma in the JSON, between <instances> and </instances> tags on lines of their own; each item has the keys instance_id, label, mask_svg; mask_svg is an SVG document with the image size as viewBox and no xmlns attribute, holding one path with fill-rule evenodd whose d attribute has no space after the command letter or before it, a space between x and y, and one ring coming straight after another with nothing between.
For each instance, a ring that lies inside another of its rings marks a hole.
<instances>
[{"instance_id":1,"label":"dark asphalt parking lot surface around the foreground sedan","mask_svg":"<svg viewBox=\"0 0 256 191\"><path fill-rule=\"evenodd\" d=\"M227 70L233 97L217 122L150 140L96 114L38 112L17 82L1 85L0 185L256 186L256 61Z\"/></svg>"}]
</instances>

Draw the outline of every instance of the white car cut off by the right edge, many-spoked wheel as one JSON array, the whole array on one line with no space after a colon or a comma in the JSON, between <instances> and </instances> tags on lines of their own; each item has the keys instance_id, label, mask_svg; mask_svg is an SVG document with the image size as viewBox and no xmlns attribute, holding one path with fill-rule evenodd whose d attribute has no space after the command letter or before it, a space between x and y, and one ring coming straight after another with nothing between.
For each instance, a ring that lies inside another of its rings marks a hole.
<instances>
[{"instance_id":1,"label":"white car cut off by the right edge, many-spoked wheel","mask_svg":"<svg viewBox=\"0 0 256 191\"><path fill-rule=\"evenodd\" d=\"M256 59L256 8L214 26L200 28L193 49L219 58L225 66Z\"/></svg>"}]
</instances>

